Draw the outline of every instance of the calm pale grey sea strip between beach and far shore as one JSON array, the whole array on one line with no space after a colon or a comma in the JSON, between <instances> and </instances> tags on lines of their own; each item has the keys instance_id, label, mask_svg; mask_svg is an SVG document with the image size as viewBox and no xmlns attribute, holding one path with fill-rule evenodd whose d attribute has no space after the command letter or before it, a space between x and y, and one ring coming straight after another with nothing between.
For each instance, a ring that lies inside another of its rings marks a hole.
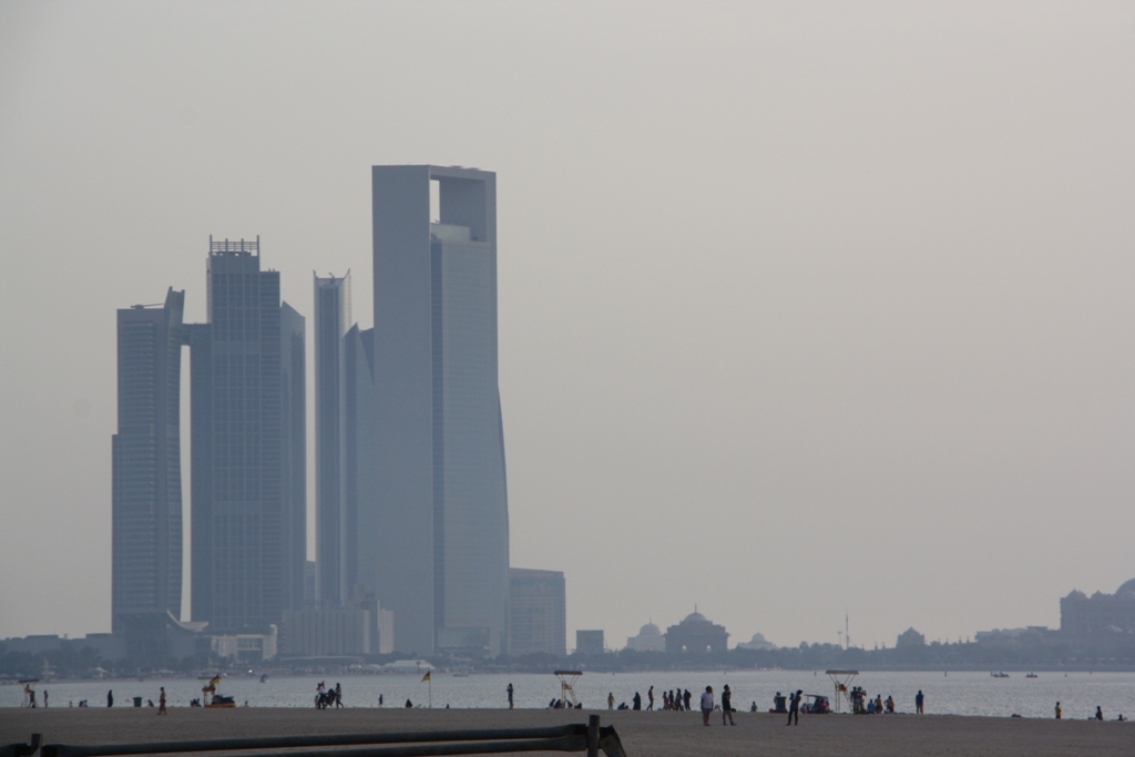
<instances>
[{"instance_id":1,"label":"calm pale grey sea strip between beach and far shore","mask_svg":"<svg viewBox=\"0 0 1135 757\"><path fill-rule=\"evenodd\" d=\"M994 679L989 673L863 673L855 683L864 687L874 697L876 693L893 696L900 712L913 712L915 693L922 689L926 696L927 714L993 715L1008 717L1019 714L1024 717L1052 717L1053 706L1059 700L1066 718L1086 718L1095 713L1096 705L1103 707L1107 720L1115 720L1120 713L1125 717L1135 716L1135 673L1037 673L1039 678L1026 679L1024 673L1012 673L1008 679ZM546 707L548 700L560 696L560 683L550 674L478 674L457 678L448 673L435 673L430 683L422 683L420 674L346 675L338 679L328 676L276 676L261 683L255 676L229 676L224 680L220 691L236 699L238 705L247 701L251 707L312 707L316 684L326 681L329 687L336 682L343 685L343 703L348 707L378 707L381 695L385 706L402 706L406 699L414 705L427 705L432 698L434 707L505 707L505 688L512 682L518 707ZM575 683L575 696L585 707L605 708L607 692L615 695L615 705L631 704L636 691L642 695L655 689L656 705L662 704L662 692L681 687L693 695L695 708L698 693L712 685L720 696L721 687L730 684L733 691L733 707L747 710L756 701L760 709L772 707L777 691L804 689L805 693L832 696L832 682L823 671L818 674L801 671L673 671L657 673L585 673ZM169 705L184 707L190 699L201 697L202 682L196 679L146 679L107 680L81 682L36 683L40 696L45 690L50 695L51 707L78 705L86 699L91 707L106 707L107 691L114 690L115 706L128 706L133 697L158 701L158 688L166 687ZM0 707L19 707L24 699L22 685L0 685ZM41 704L42 706L42 704Z\"/></svg>"}]
</instances>

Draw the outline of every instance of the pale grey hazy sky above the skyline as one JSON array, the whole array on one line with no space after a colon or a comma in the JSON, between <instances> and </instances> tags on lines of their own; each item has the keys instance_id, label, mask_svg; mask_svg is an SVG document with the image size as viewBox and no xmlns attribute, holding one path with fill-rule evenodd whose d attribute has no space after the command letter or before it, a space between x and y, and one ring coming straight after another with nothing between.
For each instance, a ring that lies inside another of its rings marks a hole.
<instances>
[{"instance_id":1,"label":"pale grey hazy sky above the skyline","mask_svg":"<svg viewBox=\"0 0 1135 757\"><path fill-rule=\"evenodd\" d=\"M1056 626L1135 577L1133 82L1132 2L0 3L0 638L109 630L115 310L259 234L369 327L424 162L497 173L569 647Z\"/></svg>"}]
</instances>

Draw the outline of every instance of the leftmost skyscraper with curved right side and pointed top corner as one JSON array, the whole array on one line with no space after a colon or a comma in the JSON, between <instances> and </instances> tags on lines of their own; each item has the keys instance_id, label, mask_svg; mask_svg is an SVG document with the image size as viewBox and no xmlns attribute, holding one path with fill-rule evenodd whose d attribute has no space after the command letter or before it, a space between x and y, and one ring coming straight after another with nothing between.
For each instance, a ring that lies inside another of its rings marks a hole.
<instances>
[{"instance_id":1,"label":"leftmost skyscraper with curved right side and pointed top corner","mask_svg":"<svg viewBox=\"0 0 1135 757\"><path fill-rule=\"evenodd\" d=\"M155 615L182 614L184 303L184 292L169 289L163 305L118 311L118 434L111 447L116 633L149 626Z\"/></svg>"}]
</instances>

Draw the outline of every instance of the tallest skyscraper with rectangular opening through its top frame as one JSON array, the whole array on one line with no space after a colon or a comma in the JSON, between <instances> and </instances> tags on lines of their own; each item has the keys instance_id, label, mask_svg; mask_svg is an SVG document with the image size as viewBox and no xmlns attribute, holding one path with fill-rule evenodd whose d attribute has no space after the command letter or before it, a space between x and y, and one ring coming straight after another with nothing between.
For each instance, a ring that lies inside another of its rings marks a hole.
<instances>
[{"instance_id":1,"label":"tallest skyscraper with rectangular opening through its top frame","mask_svg":"<svg viewBox=\"0 0 1135 757\"><path fill-rule=\"evenodd\" d=\"M397 648L507 650L496 175L376 166L378 598ZM431 219L431 187L437 220Z\"/></svg>"}]
</instances>

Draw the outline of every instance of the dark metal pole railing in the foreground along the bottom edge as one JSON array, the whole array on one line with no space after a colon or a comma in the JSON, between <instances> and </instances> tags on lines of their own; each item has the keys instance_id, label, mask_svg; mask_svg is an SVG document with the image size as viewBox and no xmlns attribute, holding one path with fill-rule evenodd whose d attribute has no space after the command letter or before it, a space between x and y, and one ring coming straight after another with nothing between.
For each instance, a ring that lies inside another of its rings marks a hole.
<instances>
[{"instance_id":1,"label":"dark metal pole railing in the foreground along the bottom edge","mask_svg":"<svg viewBox=\"0 0 1135 757\"><path fill-rule=\"evenodd\" d=\"M319 749L320 747L323 749ZM343 747L359 748L340 754L344 751ZM591 715L587 725L550 727L313 734L96 746L53 743L42 748L39 734L33 734L30 745L0 747L0 757L30 757L36 749L40 749L41 757L126 757L210 751L250 752L241 757L426 757L585 750L588 757L598 757L600 750L606 757L627 757L614 726L600 727L598 715ZM285 749L287 751L281 751Z\"/></svg>"}]
</instances>

